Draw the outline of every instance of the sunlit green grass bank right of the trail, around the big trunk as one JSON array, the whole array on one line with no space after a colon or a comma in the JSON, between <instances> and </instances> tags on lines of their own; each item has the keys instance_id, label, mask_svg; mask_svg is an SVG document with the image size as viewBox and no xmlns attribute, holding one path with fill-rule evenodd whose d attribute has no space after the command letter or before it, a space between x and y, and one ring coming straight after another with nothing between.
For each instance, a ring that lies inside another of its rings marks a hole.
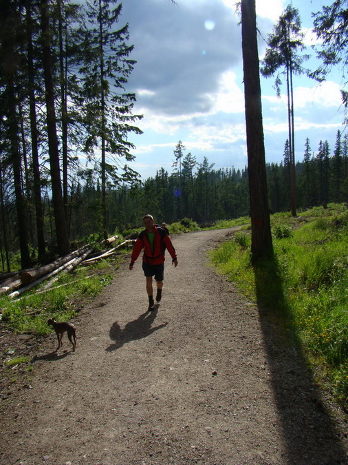
<instances>
[{"instance_id":1,"label":"sunlit green grass bank right of the trail, around the big trunk","mask_svg":"<svg viewBox=\"0 0 348 465\"><path fill-rule=\"evenodd\" d=\"M269 269L272 265L267 263L259 270L252 268L250 237L248 242L247 238L235 235L211 254L218 269L248 298L263 302L273 311L287 313L309 359L320 361L323 377L345 405L348 404L347 224L348 211L344 205L316 207L301 212L298 218L290 214L273 215L276 270ZM267 276L280 279L272 281ZM266 280L267 286L257 286L257 282Z\"/></svg>"}]
</instances>

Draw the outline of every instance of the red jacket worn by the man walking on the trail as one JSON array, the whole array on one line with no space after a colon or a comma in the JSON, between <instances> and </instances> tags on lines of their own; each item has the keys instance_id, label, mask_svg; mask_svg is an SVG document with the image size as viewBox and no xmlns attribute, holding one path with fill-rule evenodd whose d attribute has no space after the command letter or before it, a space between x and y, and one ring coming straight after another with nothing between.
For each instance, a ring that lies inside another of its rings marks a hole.
<instances>
[{"instance_id":1,"label":"red jacket worn by the man walking on the trail","mask_svg":"<svg viewBox=\"0 0 348 465\"><path fill-rule=\"evenodd\" d=\"M140 233L138 239L135 242L133 252L131 254L131 263L135 262L135 260L140 255L142 249L144 249L142 261L149 263L149 265L161 265L161 263L163 263L165 260L165 249L168 249L168 252L169 254L171 254L171 258L173 258L173 260L177 259L177 255L171 242L171 238L168 236L168 234L160 234L160 232L157 231L156 226L154 228L155 238L153 239L153 251L151 249L151 244L147 236L146 230L142 231L142 233Z\"/></svg>"}]
</instances>

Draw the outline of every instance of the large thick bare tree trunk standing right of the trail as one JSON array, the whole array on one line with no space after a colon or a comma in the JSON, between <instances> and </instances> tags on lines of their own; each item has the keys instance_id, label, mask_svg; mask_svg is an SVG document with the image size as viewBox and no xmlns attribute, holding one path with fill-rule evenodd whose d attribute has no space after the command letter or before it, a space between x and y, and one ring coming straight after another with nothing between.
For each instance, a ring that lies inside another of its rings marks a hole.
<instances>
[{"instance_id":1,"label":"large thick bare tree trunk standing right of the trail","mask_svg":"<svg viewBox=\"0 0 348 465\"><path fill-rule=\"evenodd\" d=\"M252 262L272 257L272 234L265 172L265 144L261 110L259 55L255 0L241 0L244 97L246 103L246 141L252 224Z\"/></svg>"}]
</instances>

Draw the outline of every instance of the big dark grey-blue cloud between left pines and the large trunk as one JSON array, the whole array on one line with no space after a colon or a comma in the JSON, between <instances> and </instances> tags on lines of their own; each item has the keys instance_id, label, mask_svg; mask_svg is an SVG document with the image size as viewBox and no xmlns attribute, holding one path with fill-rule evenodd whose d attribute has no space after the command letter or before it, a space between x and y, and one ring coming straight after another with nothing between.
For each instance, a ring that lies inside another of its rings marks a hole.
<instances>
[{"instance_id":1,"label":"big dark grey-blue cloud between left pines and the large trunk","mask_svg":"<svg viewBox=\"0 0 348 465\"><path fill-rule=\"evenodd\" d=\"M124 2L138 107L157 115L208 113L221 74L241 62L241 31L223 1ZM231 46L234 44L234 46Z\"/></svg>"}]
</instances>

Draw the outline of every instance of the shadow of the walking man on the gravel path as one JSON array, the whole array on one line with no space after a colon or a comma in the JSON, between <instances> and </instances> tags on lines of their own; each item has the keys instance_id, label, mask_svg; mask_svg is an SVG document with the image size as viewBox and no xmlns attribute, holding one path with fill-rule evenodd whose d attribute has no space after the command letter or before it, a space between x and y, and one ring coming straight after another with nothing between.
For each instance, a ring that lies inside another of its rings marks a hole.
<instances>
[{"instance_id":1,"label":"shadow of the walking man on the gravel path","mask_svg":"<svg viewBox=\"0 0 348 465\"><path fill-rule=\"evenodd\" d=\"M120 328L118 322L114 322L110 328L109 335L110 339L115 342L110 344L106 350L108 352L115 351L116 349L120 349L123 344L127 344L127 342L146 338L146 336L158 329L165 327L168 322L155 327L152 326L158 313L158 307L158 305L155 305L152 311L142 313L136 320L127 323L124 329Z\"/></svg>"}]
</instances>

